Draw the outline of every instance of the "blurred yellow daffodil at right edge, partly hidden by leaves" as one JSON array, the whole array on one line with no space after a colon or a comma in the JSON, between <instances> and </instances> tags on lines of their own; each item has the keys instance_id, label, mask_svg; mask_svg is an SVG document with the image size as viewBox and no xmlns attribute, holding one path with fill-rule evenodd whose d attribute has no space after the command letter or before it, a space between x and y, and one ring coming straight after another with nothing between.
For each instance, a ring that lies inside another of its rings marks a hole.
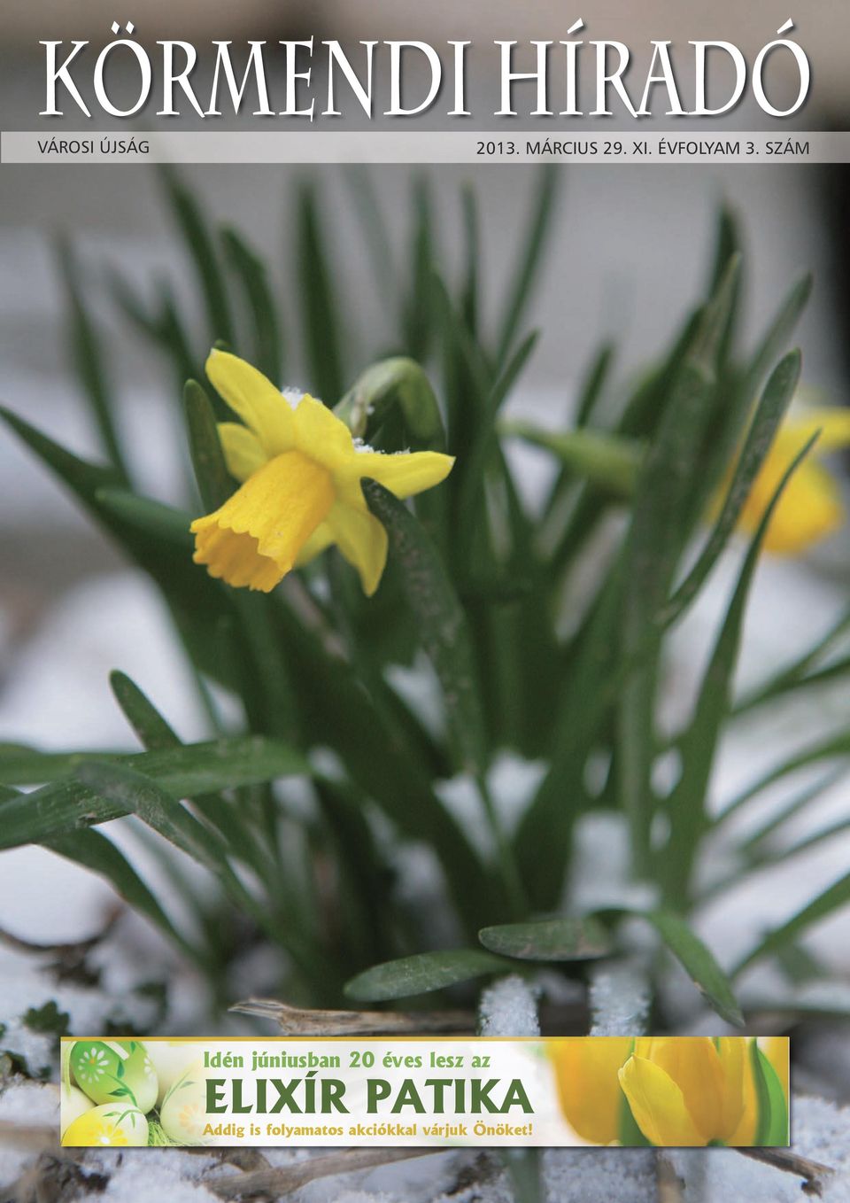
<instances>
[{"instance_id":1,"label":"blurred yellow daffodil at right edge, partly hidden by leaves","mask_svg":"<svg viewBox=\"0 0 850 1203\"><path fill-rule=\"evenodd\" d=\"M850 410L844 408L800 410L779 428L773 446L744 504L739 526L754 534L789 464L812 435L818 442L785 486L765 537L765 549L778 555L797 555L826 539L844 522L840 491L820 462L830 451L850 446Z\"/></svg>"}]
</instances>

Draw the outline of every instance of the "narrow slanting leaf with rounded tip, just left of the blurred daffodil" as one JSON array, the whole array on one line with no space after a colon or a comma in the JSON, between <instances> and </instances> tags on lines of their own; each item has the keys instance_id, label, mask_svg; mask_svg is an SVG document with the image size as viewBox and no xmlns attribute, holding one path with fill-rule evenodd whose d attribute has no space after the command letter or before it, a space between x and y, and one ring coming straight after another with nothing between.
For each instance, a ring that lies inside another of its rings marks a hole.
<instances>
[{"instance_id":1,"label":"narrow slanting leaf with rounded tip, just left of the blurred daffodil","mask_svg":"<svg viewBox=\"0 0 850 1203\"><path fill-rule=\"evenodd\" d=\"M791 403L800 383L800 351L792 351L778 365L768 380L747 433L720 514L699 559L659 614L659 623L670 626L682 616L720 558Z\"/></svg>"}]
</instances>

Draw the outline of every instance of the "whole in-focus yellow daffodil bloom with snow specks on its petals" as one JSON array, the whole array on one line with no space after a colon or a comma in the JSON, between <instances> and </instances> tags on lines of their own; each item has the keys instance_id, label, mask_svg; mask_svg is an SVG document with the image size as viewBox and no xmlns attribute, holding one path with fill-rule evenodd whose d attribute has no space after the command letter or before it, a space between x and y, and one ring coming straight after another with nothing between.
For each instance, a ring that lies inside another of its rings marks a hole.
<instances>
[{"instance_id":1,"label":"whole in-focus yellow daffodil bloom with snow specks on its petals","mask_svg":"<svg viewBox=\"0 0 850 1203\"><path fill-rule=\"evenodd\" d=\"M214 350L207 375L244 422L219 425L227 470L242 487L192 522L195 562L228 585L268 593L291 568L335 544L370 597L386 564L387 533L369 511L361 481L412 497L445 480L453 458L361 448L321 402L305 395L293 408L236 355Z\"/></svg>"}]
</instances>

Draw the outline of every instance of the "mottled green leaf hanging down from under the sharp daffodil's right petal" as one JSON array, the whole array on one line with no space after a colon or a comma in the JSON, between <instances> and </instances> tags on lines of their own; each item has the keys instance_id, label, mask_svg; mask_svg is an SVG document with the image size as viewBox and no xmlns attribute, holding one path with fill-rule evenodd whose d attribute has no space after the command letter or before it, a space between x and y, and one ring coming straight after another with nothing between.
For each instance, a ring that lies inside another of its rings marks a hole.
<instances>
[{"instance_id":1,"label":"mottled green leaf hanging down from under the sharp daffodil's right petal","mask_svg":"<svg viewBox=\"0 0 850 1203\"><path fill-rule=\"evenodd\" d=\"M483 715L477 695L466 618L440 556L414 515L391 492L365 481L363 493L384 523L404 569L404 589L420 639L442 686L446 719L463 768L480 776L487 764Z\"/></svg>"}]
</instances>

